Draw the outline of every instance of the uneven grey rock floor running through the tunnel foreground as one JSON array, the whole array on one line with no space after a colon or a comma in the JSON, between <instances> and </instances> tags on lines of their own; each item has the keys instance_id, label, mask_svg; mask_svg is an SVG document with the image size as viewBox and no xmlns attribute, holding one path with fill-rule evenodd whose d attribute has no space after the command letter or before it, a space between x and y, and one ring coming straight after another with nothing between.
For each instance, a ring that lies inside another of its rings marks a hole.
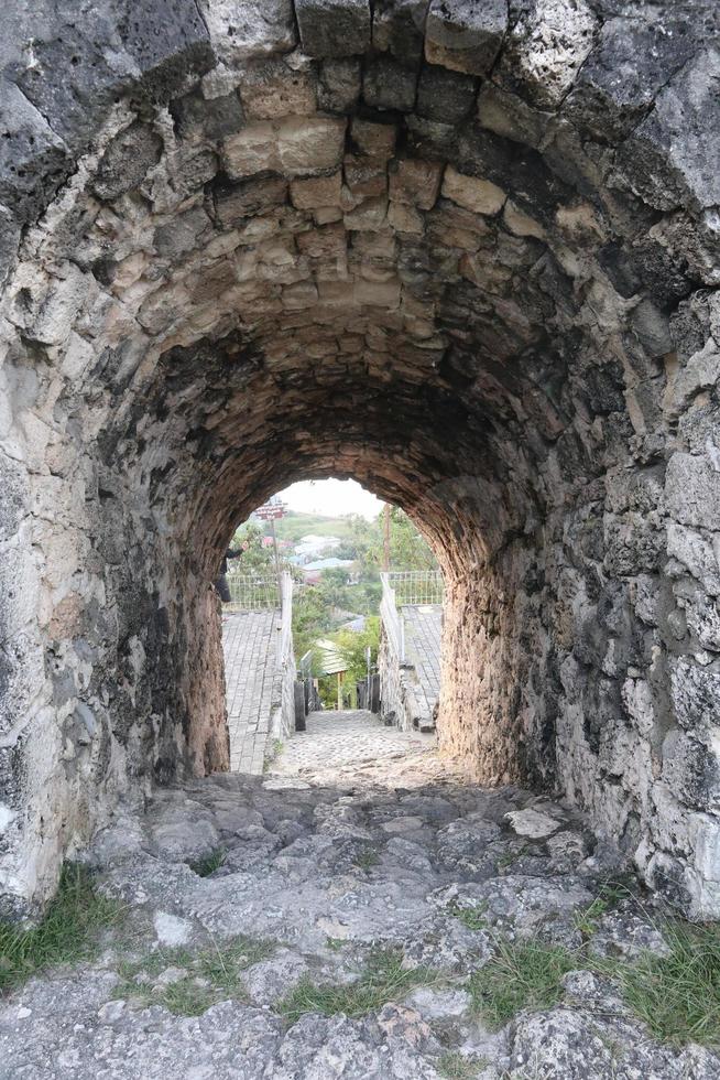
<instances>
[{"instance_id":1,"label":"uneven grey rock floor running through the tunnel foreground","mask_svg":"<svg viewBox=\"0 0 720 1080\"><path fill-rule=\"evenodd\" d=\"M119 817L100 834L92 862L128 917L98 961L37 979L3 1004L2 1080L720 1077L707 1050L654 1043L608 984L582 972L581 952L558 1005L490 1030L468 976L499 941L537 936L580 949L585 936L601 953L633 955L662 949L659 935L630 899L587 918L622 864L576 814L514 788L470 786L416 739L370 764L367 725L359 731L361 760L351 760L348 727L332 782L327 760L313 773L296 756L293 775L297 736L277 775L159 791L142 818ZM188 865L220 847L210 876ZM474 926L459 915L468 908ZM379 948L424 972L424 984L352 1019L283 1015L294 987L347 987ZM186 990L216 1003L176 1015ZM458 1071L458 1054L470 1071Z\"/></svg>"}]
</instances>

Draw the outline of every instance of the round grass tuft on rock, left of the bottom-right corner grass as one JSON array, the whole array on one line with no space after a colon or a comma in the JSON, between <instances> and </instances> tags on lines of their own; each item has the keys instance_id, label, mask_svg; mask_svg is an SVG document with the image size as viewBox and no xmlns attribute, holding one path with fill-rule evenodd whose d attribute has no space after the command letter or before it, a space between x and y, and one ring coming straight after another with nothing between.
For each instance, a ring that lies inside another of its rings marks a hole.
<instances>
[{"instance_id":1,"label":"round grass tuft on rock, left of the bottom-right corner grass","mask_svg":"<svg viewBox=\"0 0 720 1080\"><path fill-rule=\"evenodd\" d=\"M468 983L472 1006L493 1027L522 1008L550 1008L563 997L561 980L585 966L576 952L542 941L498 940L497 952Z\"/></svg>"}]
</instances>

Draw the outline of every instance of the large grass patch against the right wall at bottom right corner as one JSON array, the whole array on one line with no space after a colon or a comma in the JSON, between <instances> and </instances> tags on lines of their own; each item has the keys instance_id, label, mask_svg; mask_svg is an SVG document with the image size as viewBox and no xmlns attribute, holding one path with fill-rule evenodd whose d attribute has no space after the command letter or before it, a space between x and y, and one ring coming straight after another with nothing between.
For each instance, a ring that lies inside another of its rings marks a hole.
<instances>
[{"instance_id":1,"label":"large grass patch against the right wall at bottom right corner","mask_svg":"<svg viewBox=\"0 0 720 1080\"><path fill-rule=\"evenodd\" d=\"M644 952L634 962L593 959L625 1004L659 1041L720 1048L720 926L673 920L658 927L667 957Z\"/></svg>"}]
</instances>

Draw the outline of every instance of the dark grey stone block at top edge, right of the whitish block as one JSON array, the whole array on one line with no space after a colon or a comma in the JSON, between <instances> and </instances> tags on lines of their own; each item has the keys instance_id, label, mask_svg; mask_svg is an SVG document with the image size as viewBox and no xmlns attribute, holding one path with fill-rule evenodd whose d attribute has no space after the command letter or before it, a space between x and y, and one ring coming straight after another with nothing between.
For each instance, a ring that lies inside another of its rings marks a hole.
<instances>
[{"instance_id":1,"label":"dark grey stone block at top edge, right of the whitish block","mask_svg":"<svg viewBox=\"0 0 720 1080\"><path fill-rule=\"evenodd\" d=\"M295 14L308 56L361 55L370 46L369 0L295 0Z\"/></svg>"}]
</instances>

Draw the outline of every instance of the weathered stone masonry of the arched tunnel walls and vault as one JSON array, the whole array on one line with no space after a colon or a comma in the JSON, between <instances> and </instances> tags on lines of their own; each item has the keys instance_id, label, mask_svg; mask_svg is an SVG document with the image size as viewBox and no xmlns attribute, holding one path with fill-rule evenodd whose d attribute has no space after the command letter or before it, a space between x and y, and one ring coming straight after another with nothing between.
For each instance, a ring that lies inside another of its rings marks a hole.
<instances>
[{"instance_id":1,"label":"weathered stone masonry of the arched tunnel walls and vault","mask_svg":"<svg viewBox=\"0 0 720 1080\"><path fill-rule=\"evenodd\" d=\"M6 914L227 767L219 555L334 474L441 561L444 747L720 916L713 0L3 19Z\"/></svg>"}]
</instances>

